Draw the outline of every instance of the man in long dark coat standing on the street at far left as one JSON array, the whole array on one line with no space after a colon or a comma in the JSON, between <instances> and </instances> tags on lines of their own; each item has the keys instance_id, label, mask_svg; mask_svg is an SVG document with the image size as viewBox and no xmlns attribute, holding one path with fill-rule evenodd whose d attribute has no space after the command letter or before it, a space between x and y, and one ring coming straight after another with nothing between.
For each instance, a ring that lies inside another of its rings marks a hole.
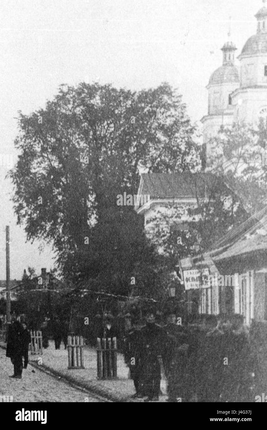
<instances>
[{"instance_id":1,"label":"man in long dark coat standing on the street at far left","mask_svg":"<svg viewBox=\"0 0 267 430\"><path fill-rule=\"evenodd\" d=\"M19 321L13 322L9 327L6 356L10 357L11 362L14 365L14 375L10 376L10 378L21 379L23 367L22 332L23 327Z\"/></svg>"}]
</instances>

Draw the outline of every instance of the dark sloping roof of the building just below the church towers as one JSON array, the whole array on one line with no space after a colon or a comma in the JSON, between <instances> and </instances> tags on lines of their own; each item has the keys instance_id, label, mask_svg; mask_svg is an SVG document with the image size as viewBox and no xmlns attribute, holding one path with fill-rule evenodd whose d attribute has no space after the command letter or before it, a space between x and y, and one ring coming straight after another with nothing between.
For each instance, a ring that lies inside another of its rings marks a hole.
<instances>
[{"instance_id":1,"label":"dark sloping roof of the building just below the church towers","mask_svg":"<svg viewBox=\"0 0 267 430\"><path fill-rule=\"evenodd\" d=\"M212 173L143 173L139 194L150 194L150 200L196 197L196 194L205 197L216 184L224 183Z\"/></svg>"}]
</instances>

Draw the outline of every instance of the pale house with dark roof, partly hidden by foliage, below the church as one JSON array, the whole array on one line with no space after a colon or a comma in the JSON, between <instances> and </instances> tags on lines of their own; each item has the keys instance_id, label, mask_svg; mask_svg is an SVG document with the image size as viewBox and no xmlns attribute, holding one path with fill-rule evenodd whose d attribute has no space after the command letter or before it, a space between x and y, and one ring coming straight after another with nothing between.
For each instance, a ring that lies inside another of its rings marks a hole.
<instances>
[{"instance_id":1,"label":"pale house with dark roof, partly hidden by foliage, below the church","mask_svg":"<svg viewBox=\"0 0 267 430\"><path fill-rule=\"evenodd\" d=\"M225 196L233 194L221 178L209 172L142 174L138 195L150 195L150 202L135 206L135 210L144 216L147 237L154 240L155 225L166 232L187 230L188 221L197 220L188 215L188 209L208 201L216 190L224 192ZM158 251L163 251L160 245Z\"/></svg>"}]
</instances>

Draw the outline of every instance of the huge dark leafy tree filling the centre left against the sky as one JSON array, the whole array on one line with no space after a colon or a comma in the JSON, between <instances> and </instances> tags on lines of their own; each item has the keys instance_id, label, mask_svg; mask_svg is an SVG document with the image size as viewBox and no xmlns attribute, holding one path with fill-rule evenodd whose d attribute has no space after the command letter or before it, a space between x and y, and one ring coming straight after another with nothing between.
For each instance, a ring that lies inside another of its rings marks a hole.
<instances>
[{"instance_id":1,"label":"huge dark leafy tree filling the centre left against the sky","mask_svg":"<svg viewBox=\"0 0 267 430\"><path fill-rule=\"evenodd\" d=\"M137 192L140 170L184 172L199 164L195 128L181 95L166 83L140 92L61 86L45 109L20 112L18 127L18 162L10 172L18 224L28 240L52 242L60 269L74 278L107 284L105 270L113 267L115 276L115 268L129 272L134 264L142 239L127 233L117 194ZM117 263L114 243L123 250L120 261L130 254L130 263Z\"/></svg>"}]
</instances>

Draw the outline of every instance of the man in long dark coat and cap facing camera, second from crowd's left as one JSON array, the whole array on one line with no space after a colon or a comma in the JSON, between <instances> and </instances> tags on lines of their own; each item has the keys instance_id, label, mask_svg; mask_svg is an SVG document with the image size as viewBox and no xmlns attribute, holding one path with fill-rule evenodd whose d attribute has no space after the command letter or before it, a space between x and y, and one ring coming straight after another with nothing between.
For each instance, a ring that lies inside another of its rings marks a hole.
<instances>
[{"instance_id":1,"label":"man in long dark coat and cap facing camera, second from crowd's left","mask_svg":"<svg viewBox=\"0 0 267 430\"><path fill-rule=\"evenodd\" d=\"M160 395L160 362L158 356L162 352L163 331L155 324L153 311L146 313L146 326L141 329L140 350L140 381L144 393L147 395L145 402L158 401Z\"/></svg>"}]
</instances>

